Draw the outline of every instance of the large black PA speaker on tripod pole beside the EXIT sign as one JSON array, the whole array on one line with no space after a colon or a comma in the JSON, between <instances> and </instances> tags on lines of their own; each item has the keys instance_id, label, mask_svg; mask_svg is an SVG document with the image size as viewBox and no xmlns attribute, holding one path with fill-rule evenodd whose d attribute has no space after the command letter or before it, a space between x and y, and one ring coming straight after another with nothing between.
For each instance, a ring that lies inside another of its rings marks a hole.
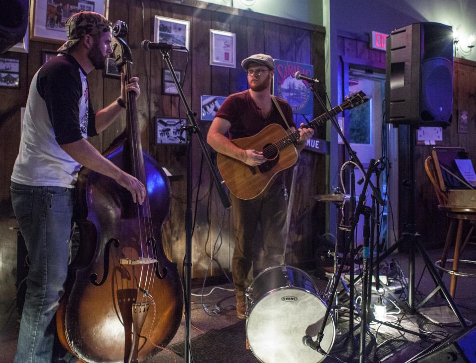
<instances>
[{"instance_id":1,"label":"large black PA speaker on tripod pole beside the EXIT sign","mask_svg":"<svg viewBox=\"0 0 476 363\"><path fill-rule=\"evenodd\" d=\"M453 108L453 31L416 23L387 39L386 120L393 124L448 126Z\"/></svg>"}]
</instances>

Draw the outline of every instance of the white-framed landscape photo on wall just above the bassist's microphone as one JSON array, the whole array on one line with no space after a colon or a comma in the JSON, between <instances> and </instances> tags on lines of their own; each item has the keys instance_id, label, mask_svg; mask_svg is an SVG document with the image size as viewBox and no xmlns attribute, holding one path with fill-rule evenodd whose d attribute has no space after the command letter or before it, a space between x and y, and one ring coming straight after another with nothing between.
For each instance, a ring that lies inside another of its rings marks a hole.
<instances>
[{"instance_id":1,"label":"white-framed landscape photo on wall just above the bassist's microphone","mask_svg":"<svg viewBox=\"0 0 476 363\"><path fill-rule=\"evenodd\" d=\"M188 49L189 34L189 21L155 15L154 42L168 43Z\"/></svg>"}]
</instances>

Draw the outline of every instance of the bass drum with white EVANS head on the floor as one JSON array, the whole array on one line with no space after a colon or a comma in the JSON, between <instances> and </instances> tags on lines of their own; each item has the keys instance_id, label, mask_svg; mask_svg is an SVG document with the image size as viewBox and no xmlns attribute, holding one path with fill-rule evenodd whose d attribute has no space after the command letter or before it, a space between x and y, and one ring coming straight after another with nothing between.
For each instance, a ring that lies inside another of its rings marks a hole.
<instances>
[{"instance_id":1,"label":"bass drum with white EVANS head on the floor","mask_svg":"<svg viewBox=\"0 0 476 363\"><path fill-rule=\"evenodd\" d=\"M316 339L326 308L304 271L288 265L265 269L246 290L246 337L254 356L263 363L321 362L325 356L305 346L302 338ZM329 315L320 344L326 353L334 337Z\"/></svg>"}]
</instances>

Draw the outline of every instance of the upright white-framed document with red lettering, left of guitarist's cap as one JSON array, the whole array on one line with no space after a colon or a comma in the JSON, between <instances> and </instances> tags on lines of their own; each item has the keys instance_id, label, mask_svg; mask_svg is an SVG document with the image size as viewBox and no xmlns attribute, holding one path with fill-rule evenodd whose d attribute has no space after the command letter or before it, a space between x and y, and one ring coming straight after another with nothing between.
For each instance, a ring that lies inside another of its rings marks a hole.
<instances>
[{"instance_id":1,"label":"upright white-framed document with red lettering, left of guitarist's cap","mask_svg":"<svg viewBox=\"0 0 476 363\"><path fill-rule=\"evenodd\" d=\"M236 34L210 29L210 65L236 68Z\"/></svg>"}]
</instances>

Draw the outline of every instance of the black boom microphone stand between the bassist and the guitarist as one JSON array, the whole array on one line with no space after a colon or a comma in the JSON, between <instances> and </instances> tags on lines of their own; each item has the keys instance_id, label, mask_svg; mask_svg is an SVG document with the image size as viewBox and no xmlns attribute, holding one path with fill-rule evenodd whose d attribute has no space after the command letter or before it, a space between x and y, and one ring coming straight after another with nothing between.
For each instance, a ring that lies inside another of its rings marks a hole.
<instances>
[{"instance_id":1,"label":"black boom microphone stand between the bassist and the guitarist","mask_svg":"<svg viewBox=\"0 0 476 363\"><path fill-rule=\"evenodd\" d=\"M212 160L210 159L210 155L207 150L207 146L203 139L203 135L200 132L200 128L198 127L197 121L195 120L196 113L190 110L188 106L187 100L183 95L183 90L180 86L180 82L177 79L177 75L175 74L174 67L170 61L169 53L166 49L160 49L160 53L162 54L163 59L167 63L167 67L169 68L170 74L172 74L172 78L174 79L174 83L179 91L180 101L183 103L185 107L185 111L187 114L187 125L182 126L187 133L187 204L186 204L186 211L185 211L185 276L183 276L184 280L184 304L185 304L185 363L190 363L191 359L191 349L190 349L190 310L191 310L191 272L192 272L192 135L195 134L197 136L198 143L200 148L202 149L203 156L208 164L208 168L210 169L211 176L213 181L215 182L215 186L217 187L218 195L222 201L223 206L225 209L231 207L230 199L226 194L225 190L221 182L218 179L218 175L213 167Z\"/></svg>"}]
</instances>

